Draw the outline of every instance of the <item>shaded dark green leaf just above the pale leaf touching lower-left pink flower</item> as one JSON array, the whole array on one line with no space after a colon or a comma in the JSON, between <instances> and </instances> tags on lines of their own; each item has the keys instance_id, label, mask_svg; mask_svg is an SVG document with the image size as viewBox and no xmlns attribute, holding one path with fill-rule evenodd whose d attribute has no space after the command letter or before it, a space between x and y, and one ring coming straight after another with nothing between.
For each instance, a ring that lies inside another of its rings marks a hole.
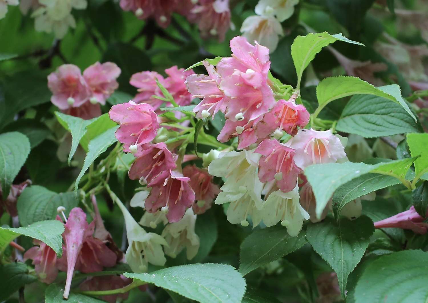
<instances>
[{"instance_id":1,"label":"shaded dark green leaf just above the pale leaf touching lower-left pink flower","mask_svg":"<svg viewBox=\"0 0 428 303\"><path fill-rule=\"evenodd\" d=\"M70 210L77 207L73 193L58 194L38 185L27 187L18 198L19 222L21 226L27 226L38 221L53 220L59 206L65 207L65 214L68 216Z\"/></svg>"}]
</instances>

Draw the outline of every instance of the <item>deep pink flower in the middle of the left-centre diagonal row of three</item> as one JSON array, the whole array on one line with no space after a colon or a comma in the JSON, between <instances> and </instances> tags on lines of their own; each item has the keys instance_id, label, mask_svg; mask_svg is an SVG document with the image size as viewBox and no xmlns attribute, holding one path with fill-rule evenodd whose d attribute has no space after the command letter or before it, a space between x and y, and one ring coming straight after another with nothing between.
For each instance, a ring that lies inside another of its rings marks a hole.
<instances>
[{"instance_id":1,"label":"deep pink flower in the middle of the left-centre diagonal row of three","mask_svg":"<svg viewBox=\"0 0 428 303\"><path fill-rule=\"evenodd\" d=\"M136 156L137 159L128 172L129 178L141 180L141 183L147 183L149 186L157 180L165 180L169 176L169 171L177 167L174 156L163 142L144 146Z\"/></svg>"}]
</instances>

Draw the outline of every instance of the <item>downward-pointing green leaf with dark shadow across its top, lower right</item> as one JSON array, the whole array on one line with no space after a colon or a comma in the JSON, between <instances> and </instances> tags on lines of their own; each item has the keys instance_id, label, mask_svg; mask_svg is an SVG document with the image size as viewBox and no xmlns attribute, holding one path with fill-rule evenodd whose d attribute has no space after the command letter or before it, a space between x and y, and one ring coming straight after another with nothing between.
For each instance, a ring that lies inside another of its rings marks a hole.
<instances>
[{"instance_id":1,"label":"downward-pointing green leaf with dark shadow across its top, lower right","mask_svg":"<svg viewBox=\"0 0 428 303\"><path fill-rule=\"evenodd\" d=\"M363 257L374 231L372 220L366 216L354 221L340 219L337 224L333 219L326 219L308 225L306 238L336 272L342 295L345 295L348 276Z\"/></svg>"}]
</instances>

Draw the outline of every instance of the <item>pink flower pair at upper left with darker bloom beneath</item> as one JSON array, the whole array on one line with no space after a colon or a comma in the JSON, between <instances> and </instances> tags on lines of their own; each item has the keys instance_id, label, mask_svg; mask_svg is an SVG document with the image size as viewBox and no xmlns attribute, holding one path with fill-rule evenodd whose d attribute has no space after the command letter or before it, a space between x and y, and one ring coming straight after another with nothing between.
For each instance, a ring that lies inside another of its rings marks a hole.
<instances>
[{"instance_id":1,"label":"pink flower pair at upper left with darker bloom beneath","mask_svg":"<svg viewBox=\"0 0 428 303\"><path fill-rule=\"evenodd\" d=\"M65 114L91 119L101 115L100 104L119 87L121 70L115 63L94 63L83 71L73 64L63 64L48 75L51 102Z\"/></svg>"}]
</instances>

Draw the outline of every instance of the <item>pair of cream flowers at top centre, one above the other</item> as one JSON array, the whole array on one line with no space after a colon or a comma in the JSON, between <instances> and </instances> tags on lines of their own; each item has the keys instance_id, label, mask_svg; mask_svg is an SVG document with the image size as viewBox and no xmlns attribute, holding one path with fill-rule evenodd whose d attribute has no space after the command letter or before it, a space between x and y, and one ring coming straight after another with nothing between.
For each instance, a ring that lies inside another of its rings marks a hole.
<instances>
[{"instance_id":1,"label":"pair of cream flowers at top centre, one above the other","mask_svg":"<svg viewBox=\"0 0 428 303\"><path fill-rule=\"evenodd\" d=\"M247 17L242 23L242 36L275 51L279 36L284 34L281 22L293 15L297 3L299 0L259 0L257 15Z\"/></svg>"}]
</instances>

